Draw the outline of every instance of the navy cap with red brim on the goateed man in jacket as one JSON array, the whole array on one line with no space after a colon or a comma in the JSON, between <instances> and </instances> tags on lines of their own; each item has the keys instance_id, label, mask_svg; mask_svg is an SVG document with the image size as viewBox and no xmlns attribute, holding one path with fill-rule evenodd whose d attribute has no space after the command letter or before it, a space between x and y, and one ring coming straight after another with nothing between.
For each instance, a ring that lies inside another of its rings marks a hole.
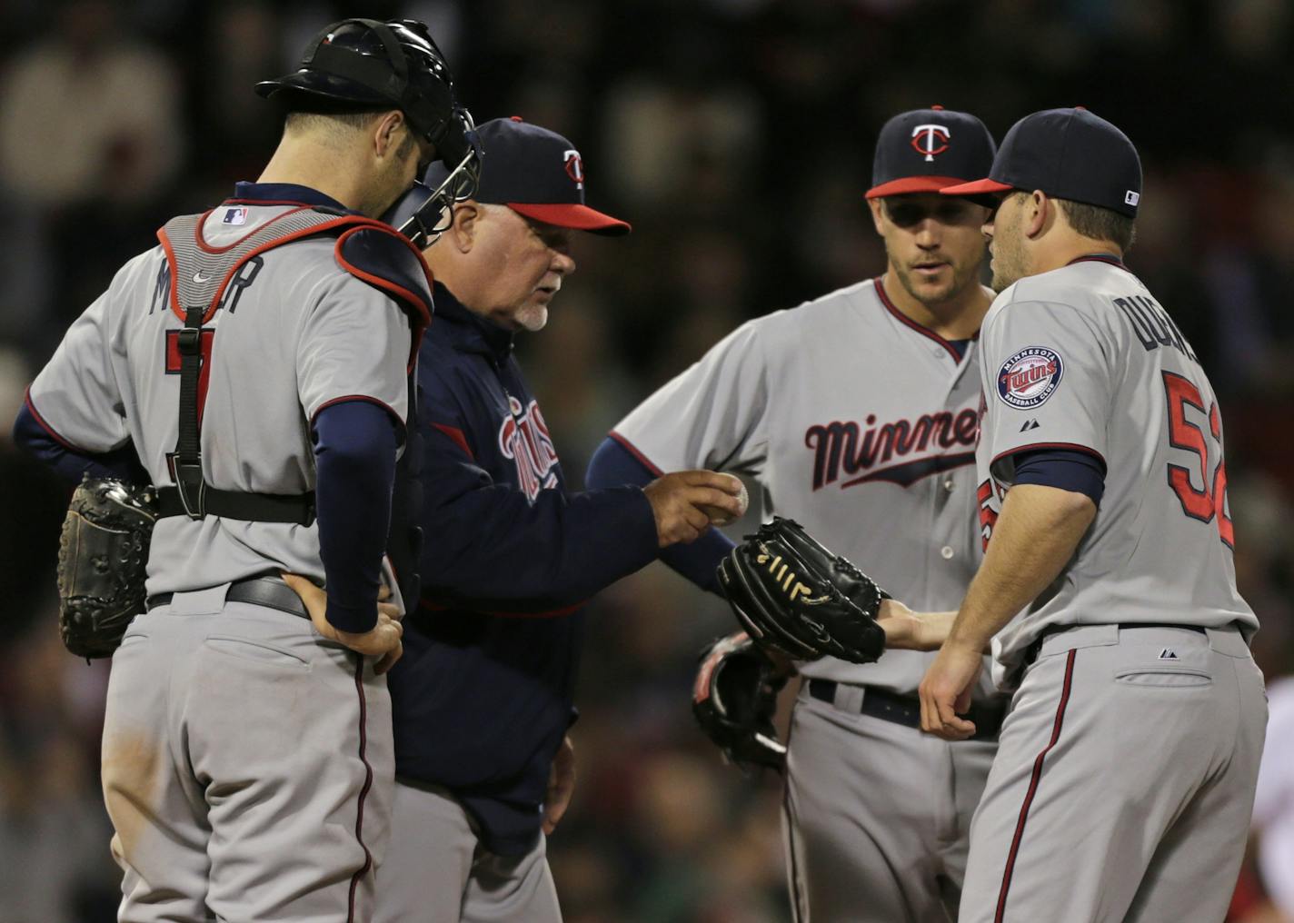
<instances>
[{"instance_id":1,"label":"navy cap with red brim on the goateed man in jacket","mask_svg":"<svg viewBox=\"0 0 1294 923\"><path fill-rule=\"evenodd\" d=\"M492 119L476 128L484 157L472 198L506 205L525 217L594 234L628 234L630 227L584 203L584 161L567 139L547 128L510 119ZM432 163L423 183L435 189L445 179Z\"/></svg>"}]
</instances>

